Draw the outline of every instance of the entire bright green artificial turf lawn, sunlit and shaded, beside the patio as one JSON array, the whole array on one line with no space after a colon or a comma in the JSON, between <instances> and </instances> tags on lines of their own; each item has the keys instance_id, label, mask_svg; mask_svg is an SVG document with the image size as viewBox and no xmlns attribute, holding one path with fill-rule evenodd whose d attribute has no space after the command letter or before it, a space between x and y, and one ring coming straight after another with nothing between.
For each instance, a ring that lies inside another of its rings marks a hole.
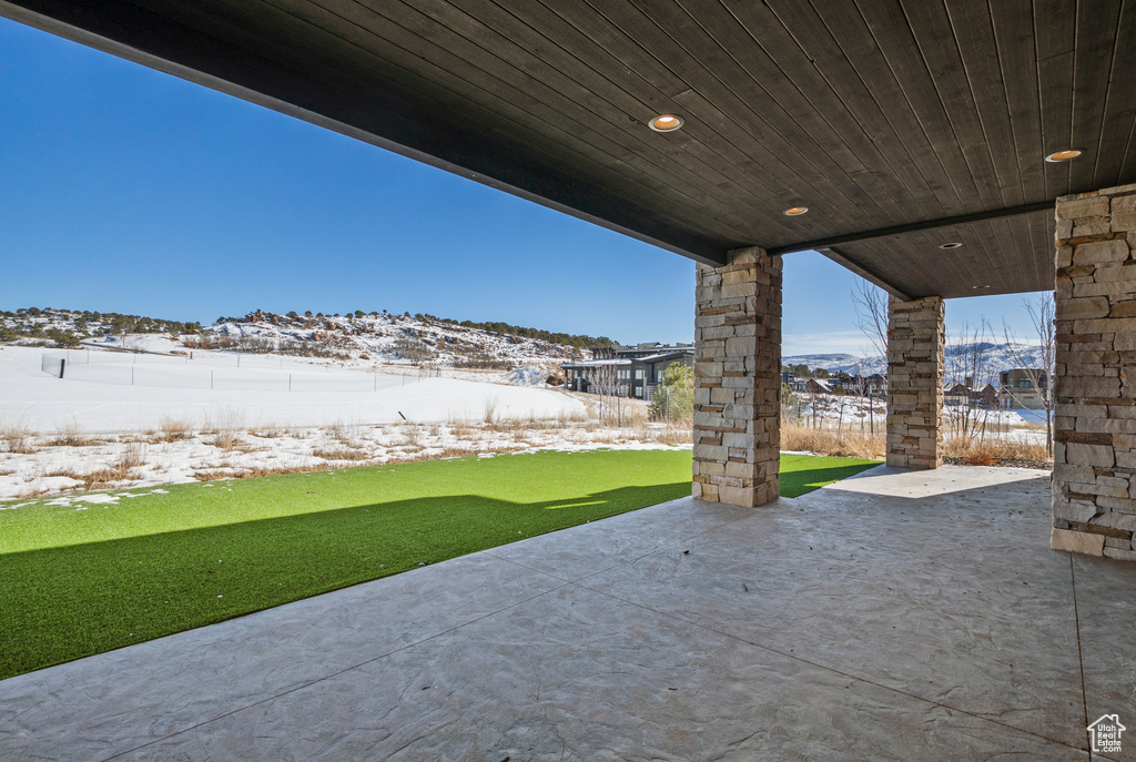
<instances>
[{"instance_id":1,"label":"entire bright green artificial turf lawn, sunlit and shaded, beside the patio","mask_svg":"<svg viewBox=\"0 0 1136 762\"><path fill-rule=\"evenodd\" d=\"M874 464L783 455L782 494ZM688 450L540 452L23 503L0 510L0 678L683 497L690 474Z\"/></svg>"}]
</instances>

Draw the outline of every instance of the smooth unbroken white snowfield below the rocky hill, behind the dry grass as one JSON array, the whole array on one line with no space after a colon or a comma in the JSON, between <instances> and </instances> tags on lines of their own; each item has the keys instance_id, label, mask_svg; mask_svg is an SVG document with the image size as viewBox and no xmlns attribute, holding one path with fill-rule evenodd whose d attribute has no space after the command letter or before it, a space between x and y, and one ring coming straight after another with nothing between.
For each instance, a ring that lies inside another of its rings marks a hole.
<instances>
[{"instance_id":1,"label":"smooth unbroken white snowfield below the rocky hill, behind the dry grass","mask_svg":"<svg viewBox=\"0 0 1136 762\"><path fill-rule=\"evenodd\" d=\"M0 347L0 425L19 425L39 433L77 427L93 434L157 429L165 419L185 421L192 428L220 418L247 427L311 427L336 421L482 420L488 408L499 418L584 412L580 401L548 388L320 368L265 355L242 358L244 365L237 368L233 358L216 355L204 359L195 354L191 362L186 358L103 354L99 360L105 363L70 363L60 379L41 370L44 353L32 347ZM58 351L47 353L61 355ZM137 365L133 363L135 357ZM134 385L130 384L131 374ZM208 388L210 374L214 388Z\"/></svg>"}]
</instances>

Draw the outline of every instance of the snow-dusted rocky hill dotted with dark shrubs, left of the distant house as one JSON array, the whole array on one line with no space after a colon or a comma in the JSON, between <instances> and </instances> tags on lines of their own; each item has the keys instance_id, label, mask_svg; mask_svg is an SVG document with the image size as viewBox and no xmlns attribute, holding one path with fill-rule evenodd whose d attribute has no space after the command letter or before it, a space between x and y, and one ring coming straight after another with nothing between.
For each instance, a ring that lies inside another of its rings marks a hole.
<instances>
[{"instance_id":1,"label":"snow-dusted rocky hill dotted with dark shrubs, left of the distant house","mask_svg":"<svg viewBox=\"0 0 1136 762\"><path fill-rule=\"evenodd\" d=\"M211 326L99 312L34 309L0 315L0 342L181 353L189 350L291 354L352 361L510 370L554 368L573 347L481 330L426 316L253 312ZM577 350L578 352L578 350Z\"/></svg>"}]
</instances>

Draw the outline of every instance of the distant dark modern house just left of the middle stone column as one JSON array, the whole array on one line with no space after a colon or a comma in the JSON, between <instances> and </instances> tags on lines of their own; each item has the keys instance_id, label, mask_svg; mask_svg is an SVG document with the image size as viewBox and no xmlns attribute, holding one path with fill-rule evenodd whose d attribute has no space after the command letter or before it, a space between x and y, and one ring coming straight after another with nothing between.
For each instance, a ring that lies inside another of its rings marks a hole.
<instances>
[{"instance_id":1,"label":"distant dark modern house just left of the middle stone column","mask_svg":"<svg viewBox=\"0 0 1136 762\"><path fill-rule=\"evenodd\" d=\"M560 366L565 388L650 400L671 363L694 366L694 346L658 342L593 350L593 359Z\"/></svg>"}]
</instances>

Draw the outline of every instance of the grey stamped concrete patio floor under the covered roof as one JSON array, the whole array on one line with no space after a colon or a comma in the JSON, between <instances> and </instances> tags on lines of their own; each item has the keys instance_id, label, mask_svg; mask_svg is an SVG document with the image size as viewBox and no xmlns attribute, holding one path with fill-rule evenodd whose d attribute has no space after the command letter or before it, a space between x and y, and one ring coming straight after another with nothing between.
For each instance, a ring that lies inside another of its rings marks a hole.
<instances>
[{"instance_id":1,"label":"grey stamped concrete patio floor under the covered roof","mask_svg":"<svg viewBox=\"0 0 1136 762\"><path fill-rule=\"evenodd\" d=\"M993 468L665 503L5 680L0 759L1136 759L1136 564L1049 516Z\"/></svg>"}]
</instances>

